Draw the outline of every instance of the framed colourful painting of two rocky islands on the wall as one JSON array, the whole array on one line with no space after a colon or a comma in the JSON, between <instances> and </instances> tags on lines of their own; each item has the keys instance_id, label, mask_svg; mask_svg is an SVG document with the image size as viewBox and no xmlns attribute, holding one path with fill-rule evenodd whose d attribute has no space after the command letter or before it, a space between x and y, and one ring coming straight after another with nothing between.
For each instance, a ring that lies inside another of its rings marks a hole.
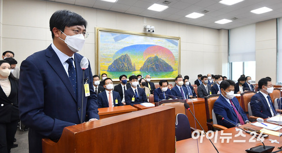
<instances>
[{"instance_id":1,"label":"framed colourful painting of two rocky islands on the wall","mask_svg":"<svg viewBox=\"0 0 282 153\"><path fill-rule=\"evenodd\" d=\"M180 74L180 37L132 33L96 27L96 74L113 81L123 74L147 74L152 81Z\"/></svg>"}]
</instances>

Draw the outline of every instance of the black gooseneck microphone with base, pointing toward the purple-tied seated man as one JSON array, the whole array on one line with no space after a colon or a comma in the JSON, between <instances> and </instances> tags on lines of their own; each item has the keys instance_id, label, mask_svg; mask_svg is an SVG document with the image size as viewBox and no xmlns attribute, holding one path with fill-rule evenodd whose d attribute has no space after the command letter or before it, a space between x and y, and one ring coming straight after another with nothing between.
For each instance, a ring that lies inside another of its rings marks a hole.
<instances>
[{"instance_id":1,"label":"black gooseneck microphone with base, pointing toward the purple-tied seated man","mask_svg":"<svg viewBox=\"0 0 282 153\"><path fill-rule=\"evenodd\" d=\"M230 122L229 120L224 119L224 117L223 117L222 115L218 115L217 117L218 117L219 119L221 119L221 120L226 120L226 121L228 121L229 123L231 123L232 125L236 126L237 128L243 130L242 128L240 128L239 126L233 124L233 123ZM264 120L264 119L263 119L263 120ZM246 130L243 130L243 131L245 131L246 133L248 133L248 134L250 135L250 132L247 132ZM251 136L252 136L252 135L251 135ZM257 139L259 139L257 136L254 136L254 137L257 138ZM260 145L260 146L256 146L256 147L253 147L253 148L249 148L249 149L246 150L246 152L247 152L247 153L271 153L272 150L274 149L274 147L273 147L273 146L265 146L265 145L264 145L264 142L263 142L261 139L259 139L259 140L263 143L263 146Z\"/></svg>"}]
</instances>

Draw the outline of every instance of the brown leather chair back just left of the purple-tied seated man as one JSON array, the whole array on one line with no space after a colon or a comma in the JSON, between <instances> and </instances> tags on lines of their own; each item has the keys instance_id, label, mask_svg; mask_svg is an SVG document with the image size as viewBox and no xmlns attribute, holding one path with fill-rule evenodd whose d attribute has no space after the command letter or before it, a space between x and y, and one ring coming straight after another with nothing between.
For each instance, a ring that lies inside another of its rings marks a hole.
<instances>
[{"instance_id":1,"label":"brown leather chair back just left of the purple-tied seated man","mask_svg":"<svg viewBox=\"0 0 282 153\"><path fill-rule=\"evenodd\" d=\"M212 109L214 102L218 99L220 94L209 95L205 97L207 125L209 130L212 130Z\"/></svg>"}]
</instances>

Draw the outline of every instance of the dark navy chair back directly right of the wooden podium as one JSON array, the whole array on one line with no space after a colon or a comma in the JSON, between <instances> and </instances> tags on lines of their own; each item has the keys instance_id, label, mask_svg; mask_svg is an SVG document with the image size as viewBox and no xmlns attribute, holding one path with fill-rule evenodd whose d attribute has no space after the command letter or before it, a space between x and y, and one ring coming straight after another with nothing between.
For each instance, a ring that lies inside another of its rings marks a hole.
<instances>
[{"instance_id":1,"label":"dark navy chair back directly right of the wooden podium","mask_svg":"<svg viewBox=\"0 0 282 153\"><path fill-rule=\"evenodd\" d=\"M178 113L176 115L175 136L176 136L176 141L180 141L192 137L190 123L185 114Z\"/></svg>"}]
</instances>

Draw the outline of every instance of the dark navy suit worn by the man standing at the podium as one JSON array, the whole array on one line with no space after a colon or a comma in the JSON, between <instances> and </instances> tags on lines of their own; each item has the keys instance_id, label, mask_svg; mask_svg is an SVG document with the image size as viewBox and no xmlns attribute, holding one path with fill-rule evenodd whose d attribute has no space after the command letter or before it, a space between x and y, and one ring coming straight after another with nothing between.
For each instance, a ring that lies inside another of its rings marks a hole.
<instances>
[{"instance_id":1,"label":"dark navy suit worn by the man standing at the podium","mask_svg":"<svg viewBox=\"0 0 282 153\"><path fill-rule=\"evenodd\" d=\"M83 71L80 68L82 55L74 53L77 78L77 95L59 57L51 45L27 57L20 66L18 103L21 121L30 127L29 151L41 153L41 139L59 139L64 127L81 122L99 119L97 96L93 89L90 65ZM83 80L89 84L90 96L85 97ZM86 118L88 116L88 118Z\"/></svg>"}]
</instances>

